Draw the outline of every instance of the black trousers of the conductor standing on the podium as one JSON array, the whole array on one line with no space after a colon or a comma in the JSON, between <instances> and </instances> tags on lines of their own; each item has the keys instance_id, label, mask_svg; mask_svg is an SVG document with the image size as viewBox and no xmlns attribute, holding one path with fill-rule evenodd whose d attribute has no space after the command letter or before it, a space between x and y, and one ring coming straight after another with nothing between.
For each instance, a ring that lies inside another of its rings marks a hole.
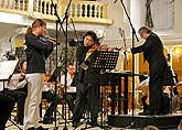
<instances>
[{"instance_id":1,"label":"black trousers of the conductor standing on the podium","mask_svg":"<svg viewBox=\"0 0 182 130\"><path fill-rule=\"evenodd\" d=\"M157 72L151 72L149 80L150 111L154 113L162 112L162 77Z\"/></svg>"}]
</instances>

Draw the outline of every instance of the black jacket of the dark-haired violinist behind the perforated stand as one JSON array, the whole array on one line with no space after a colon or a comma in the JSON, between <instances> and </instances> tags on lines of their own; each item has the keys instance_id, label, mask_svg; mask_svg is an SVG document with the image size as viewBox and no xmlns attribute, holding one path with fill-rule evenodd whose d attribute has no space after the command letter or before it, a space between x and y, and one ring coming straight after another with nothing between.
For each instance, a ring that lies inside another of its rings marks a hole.
<instances>
[{"instance_id":1,"label":"black jacket of the dark-haired violinist behind the perforated stand","mask_svg":"<svg viewBox=\"0 0 182 130\"><path fill-rule=\"evenodd\" d=\"M88 48L85 46L79 46L76 51L76 58L78 65L85 61L86 53ZM100 71L96 68L88 67L86 71L79 67L78 69L78 82L84 84L99 84Z\"/></svg>"}]
</instances>

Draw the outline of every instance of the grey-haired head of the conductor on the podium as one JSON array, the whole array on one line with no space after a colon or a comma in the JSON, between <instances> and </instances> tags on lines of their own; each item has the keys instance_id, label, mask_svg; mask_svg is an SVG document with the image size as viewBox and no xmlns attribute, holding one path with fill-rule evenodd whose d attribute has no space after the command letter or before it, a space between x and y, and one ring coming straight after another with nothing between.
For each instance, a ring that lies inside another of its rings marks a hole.
<instances>
[{"instance_id":1,"label":"grey-haired head of the conductor on the podium","mask_svg":"<svg viewBox=\"0 0 182 130\"><path fill-rule=\"evenodd\" d=\"M146 40L150 35L151 29L148 26L141 26L138 33L140 34L141 39Z\"/></svg>"}]
</instances>

